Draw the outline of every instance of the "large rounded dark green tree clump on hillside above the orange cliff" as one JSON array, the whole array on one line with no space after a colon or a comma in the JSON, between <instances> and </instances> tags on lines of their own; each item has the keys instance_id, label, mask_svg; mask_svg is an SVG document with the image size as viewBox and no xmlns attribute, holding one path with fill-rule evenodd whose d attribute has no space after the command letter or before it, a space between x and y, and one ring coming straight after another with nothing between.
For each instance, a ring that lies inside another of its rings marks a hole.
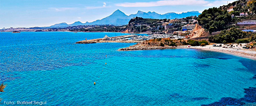
<instances>
[{"instance_id":1,"label":"large rounded dark green tree clump on hillside above the orange cliff","mask_svg":"<svg viewBox=\"0 0 256 106\"><path fill-rule=\"evenodd\" d=\"M204 10L202 14L198 16L197 20L198 23L210 33L228 29L232 21L231 15L228 14L227 10L221 10L215 7Z\"/></svg>"}]
</instances>

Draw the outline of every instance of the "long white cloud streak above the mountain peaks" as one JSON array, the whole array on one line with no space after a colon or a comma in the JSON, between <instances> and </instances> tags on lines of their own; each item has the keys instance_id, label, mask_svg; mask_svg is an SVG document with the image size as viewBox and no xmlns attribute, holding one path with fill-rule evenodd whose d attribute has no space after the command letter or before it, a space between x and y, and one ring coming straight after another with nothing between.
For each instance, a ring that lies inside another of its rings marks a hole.
<instances>
[{"instance_id":1,"label":"long white cloud streak above the mountain peaks","mask_svg":"<svg viewBox=\"0 0 256 106\"><path fill-rule=\"evenodd\" d=\"M234 2L236 0L229 0ZM152 7L152 6L177 6L177 5L201 5L201 6L222 6L227 4L226 0L206 1L206 0L160 0L156 2L134 2L119 3L116 6L122 7Z\"/></svg>"}]
</instances>

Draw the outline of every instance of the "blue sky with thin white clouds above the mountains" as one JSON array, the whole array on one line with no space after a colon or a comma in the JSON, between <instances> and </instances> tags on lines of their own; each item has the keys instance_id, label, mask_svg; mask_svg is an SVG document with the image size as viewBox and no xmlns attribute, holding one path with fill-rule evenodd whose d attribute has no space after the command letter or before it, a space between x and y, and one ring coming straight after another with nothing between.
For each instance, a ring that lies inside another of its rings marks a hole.
<instances>
[{"instance_id":1,"label":"blue sky with thin white clouds above the mountains","mask_svg":"<svg viewBox=\"0 0 256 106\"><path fill-rule=\"evenodd\" d=\"M235 0L0 0L0 29L3 27L47 27L103 19L119 9L126 15L138 10L168 12L199 11Z\"/></svg>"}]
</instances>

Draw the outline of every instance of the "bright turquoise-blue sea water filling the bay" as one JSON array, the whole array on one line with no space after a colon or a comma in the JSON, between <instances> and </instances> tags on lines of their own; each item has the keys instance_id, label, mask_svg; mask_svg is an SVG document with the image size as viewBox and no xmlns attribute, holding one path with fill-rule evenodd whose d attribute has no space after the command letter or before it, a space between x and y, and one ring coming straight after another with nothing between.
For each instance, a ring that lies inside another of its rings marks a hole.
<instances>
[{"instance_id":1,"label":"bright turquoise-blue sea water filling the bay","mask_svg":"<svg viewBox=\"0 0 256 106\"><path fill-rule=\"evenodd\" d=\"M105 34L125 35L0 33L0 78L8 84L0 98L49 106L200 106L243 98L244 88L255 87L256 61L246 58L195 49L117 51L133 45L127 43L75 44Z\"/></svg>"}]
</instances>

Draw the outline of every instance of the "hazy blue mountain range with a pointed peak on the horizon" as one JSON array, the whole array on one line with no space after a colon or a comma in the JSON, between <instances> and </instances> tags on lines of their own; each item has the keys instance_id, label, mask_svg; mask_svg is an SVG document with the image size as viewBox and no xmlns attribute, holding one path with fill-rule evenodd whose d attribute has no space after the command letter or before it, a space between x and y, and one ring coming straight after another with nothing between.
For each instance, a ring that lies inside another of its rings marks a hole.
<instances>
[{"instance_id":1,"label":"hazy blue mountain range with a pointed peak on the horizon","mask_svg":"<svg viewBox=\"0 0 256 106\"><path fill-rule=\"evenodd\" d=\"M82 23L80 21L77 21L72 24L67 24L67 23L58 23L55 25L52 25L47 28L64 28L64 27L69 27L69 26L78 26L78 25L126 25L128 22L133 18L133 17L142 17L142 18L148 18L148 19L175 19L175 18L184 18L184 17L189 17L189 16L198 16L201 13L198 11L190 11L190 12L183 12L181 14L177 14L175 12L169 12L166 14L158 14L156 12L143 12L143 11L138 11L136 14L131 14L131 15L125 15L124 12L120 10L116 10L112 15L105 17L101 20L96 20L93 22L86 22Z\"/></svg>"}]
</instances>

